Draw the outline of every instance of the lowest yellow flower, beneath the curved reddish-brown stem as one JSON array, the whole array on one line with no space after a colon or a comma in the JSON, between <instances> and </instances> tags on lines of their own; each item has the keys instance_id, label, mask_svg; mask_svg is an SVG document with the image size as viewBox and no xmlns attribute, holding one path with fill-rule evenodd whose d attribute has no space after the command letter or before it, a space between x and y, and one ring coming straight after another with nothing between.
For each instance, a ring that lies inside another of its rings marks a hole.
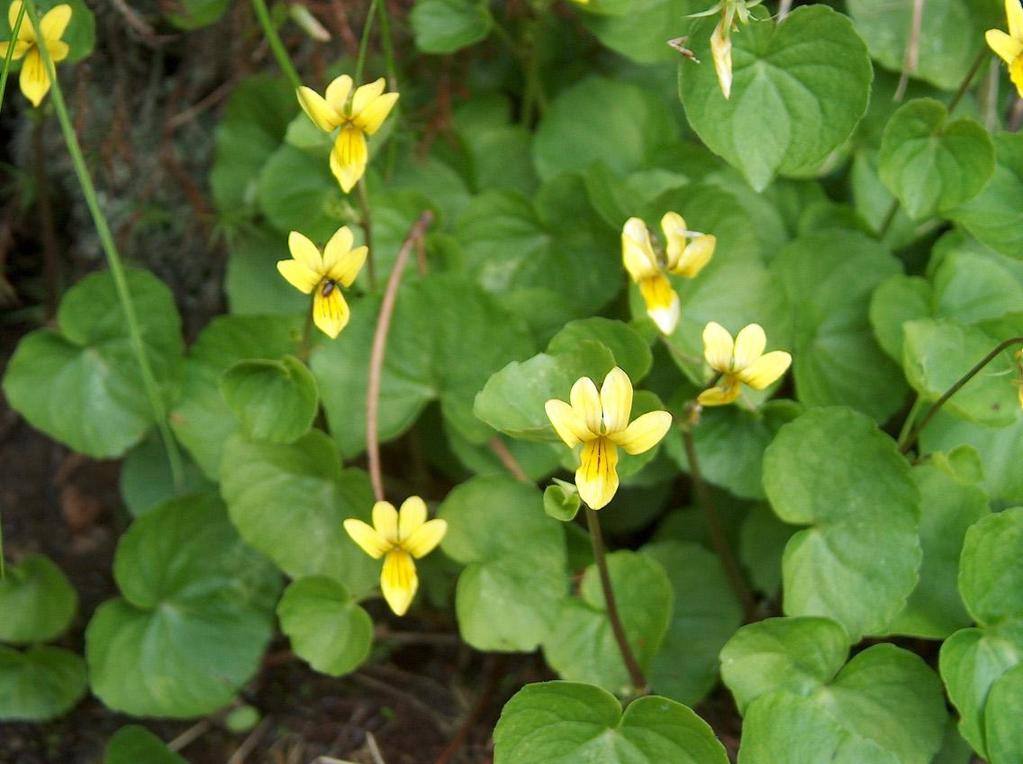
<instances>
[{"instance_id":1,"label":"lowest yellow flower, beneath the curved reddish-brown stem","mask_svg":"<svg viewBox=\"0 0 1023 764\"><path fill-rule=\"evenodd\" d=\"M395 615L404 616L419 588L412 559L434 550L447 533L447 521L428 521L426 502L410 496L401 511L390 501L377 501L371 526L361 520L346 520L345 530L370 557L384 557L381 590Z\"/></svg>"}]
</instances>

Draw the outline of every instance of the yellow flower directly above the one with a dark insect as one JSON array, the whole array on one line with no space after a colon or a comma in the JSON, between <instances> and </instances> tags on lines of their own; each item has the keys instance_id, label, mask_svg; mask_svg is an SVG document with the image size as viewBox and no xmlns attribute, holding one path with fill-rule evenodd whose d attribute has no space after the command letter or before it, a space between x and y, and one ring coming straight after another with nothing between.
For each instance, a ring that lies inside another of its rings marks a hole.
<instances>
[{"instance_id":1,"label":"yellow flower directly above the one with a dark insect","mask_svg":"<svg viewBox=\"0 0 1023 764\"><path fill-rule=\"evenodd\" d=\"M301 87L299 103L310 120L325 133L341 128L330 151L330 171L348 193L366 171L369 149L366 136L380 130L391 114L397 93L385 93L384 78L355 89L352 78L342 75L326 87L324 98L315 90ZM349 98L351 95L351 98Z\"/></svg>"}]
</instances>

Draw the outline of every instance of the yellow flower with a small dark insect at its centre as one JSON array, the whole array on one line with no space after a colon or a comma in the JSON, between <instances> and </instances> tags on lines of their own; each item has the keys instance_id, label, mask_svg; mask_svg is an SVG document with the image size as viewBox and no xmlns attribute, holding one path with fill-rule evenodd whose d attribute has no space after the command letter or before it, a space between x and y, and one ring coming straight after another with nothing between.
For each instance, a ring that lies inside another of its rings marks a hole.
<instances>
[{"instance_id":1,"label":"yellow flower with a small dark insect at its centre","mask_svg":"<svg viewBox=\"0 0 1023 764\"><path fill-rule=\"evenodd\" d=\"M351 286L366 262L365 246L352 249L352 232L339 228L326 242L323 253L298 231L287 237L292 260L278 260L277 270L287 282L306 295L313 291L313 321L324 334L333 339L348 324L351 312L341 295L341 287Z\"/></svg>"}]
</instances>

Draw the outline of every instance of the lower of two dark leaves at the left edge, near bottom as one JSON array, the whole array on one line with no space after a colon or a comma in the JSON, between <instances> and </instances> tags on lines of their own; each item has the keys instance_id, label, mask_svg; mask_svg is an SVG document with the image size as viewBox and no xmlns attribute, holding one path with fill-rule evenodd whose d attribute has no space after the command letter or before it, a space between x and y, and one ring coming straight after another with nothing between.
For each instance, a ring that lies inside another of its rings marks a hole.
<instances>
[{"instance_id":1,"label":"lower of two dark leaves at the left edge, near bottom","mask_svg":"<svg viewBox=\"0 0 1023 764\"><path fill-rule=\"evenodd\" d=\"M47 645L19 653L0 645L0 720L53 719L87 688L85 662L74 653Z\"/></svg>"}]
</instances>

